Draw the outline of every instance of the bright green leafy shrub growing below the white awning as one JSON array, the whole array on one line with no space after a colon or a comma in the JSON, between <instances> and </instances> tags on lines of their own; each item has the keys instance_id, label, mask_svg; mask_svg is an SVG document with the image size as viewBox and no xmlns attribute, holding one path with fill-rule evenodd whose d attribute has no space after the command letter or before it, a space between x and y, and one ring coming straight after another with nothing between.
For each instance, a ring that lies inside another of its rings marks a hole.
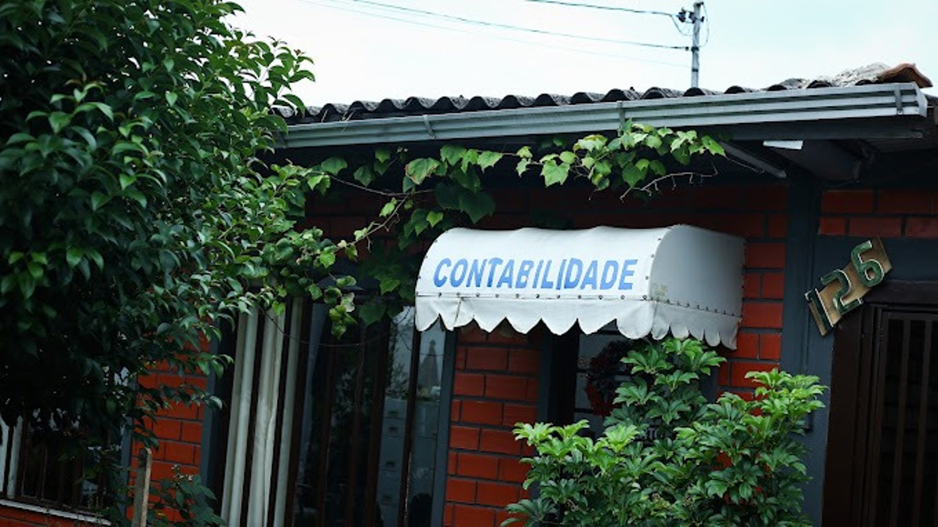
<instances>
[{"instance_id":1,"label":"bright green leafy shrub growing below the white awning","mask_svg":"<svg viewBox=\"0 0 938 527\"><path fill-rule=\"evenodd\" d=\"M725 359L694 339L640 342L622 359L629 379L602 437L568 426L519 424L533 445L524 487L503 525L809 525L800 484L805 417L824 405L816 377L747 374L753 400L725 393L707 404L699 381Z\"/></svg>"}]
</instances>

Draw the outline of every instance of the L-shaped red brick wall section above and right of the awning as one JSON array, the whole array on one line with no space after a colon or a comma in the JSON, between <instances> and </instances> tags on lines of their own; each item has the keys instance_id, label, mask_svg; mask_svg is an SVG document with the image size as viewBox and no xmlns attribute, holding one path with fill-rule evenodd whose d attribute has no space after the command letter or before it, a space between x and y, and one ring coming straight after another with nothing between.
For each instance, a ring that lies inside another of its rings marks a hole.
<instances>
[{"instance_id":1,"label":"L-shaped red brick wall section above and right of the awning","mask_svg":"<svg viewBox=\"0 0 938 527\"><path fill-rule=\"evenodd\" d=\"M754 384L752 370L769 370L781 357L782 297L785 280L785 237L788 234L788 189L781 184L752 186L682 187L650 200L623 202L615 194L588 191L552 192L539 189L530 201L521 195L499 196L514 214L486 220L492 228L509 228L525 217L524 207L562 211L573 225L586 228L611 225L630 228L674 224L697 225L746 239L743 284L743 319L737 349L725 353L728 361L718 372L719 391L748 397ZM521 205L519 205L521 204ZM508 216L508 219L506 219Z\"/></svg>"}]
</instances>

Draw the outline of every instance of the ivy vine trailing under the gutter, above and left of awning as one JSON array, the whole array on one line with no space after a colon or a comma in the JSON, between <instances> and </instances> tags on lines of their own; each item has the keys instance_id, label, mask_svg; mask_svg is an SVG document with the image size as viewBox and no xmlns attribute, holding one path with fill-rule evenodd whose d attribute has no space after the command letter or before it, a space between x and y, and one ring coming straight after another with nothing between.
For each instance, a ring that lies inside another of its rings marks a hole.
<instances>
[{"instance_id":1,"label":"ivy vine trailing under the gutter, above and left of awning","mask_svg":"<svg viewBox=\"0 0 938 527\"><path fill-rule=\"evenodd\" d=\"M289 233L287 240L310 237L319 241L298 257L289 251L283 254L291 258L291 271L281 273L275 305L281 307L288 296L297 293L324 300L331 305L332 331L337 336L356 323L353 311L366 324L396 314L401 306L414 302L419 258L413 247L451 227L474 225L494 213L495 202L483 188L482 177L496 167L519 178L540 178L545 187L588 181L596 191L619 191L624 199L630 193L654 194L660 181L697 174L669 172L668 158L688 166L694 158L708 155L725 156L714 137L629 120L613 136L554 137L514 151L446 144L436 156L414 157L405 147L378 147L372 159L329 157L305 167L276 166L305 178L314 193L328 194L335 184L380 194L386 201L376 218L349 240L323 239L324 233L316 227L311 232ZM398 180L400 190L391 186ZM386 238L395 243L375 243ZM284 247L289 245L283 242ZM355 261L362 245L373 256L362 264L362 271L377 281L379 294L356 307L351 291L356 279L332 270L337 256ZM323 273L331 277L325 288L316 281Z\"/></svg>"}]
</instances>

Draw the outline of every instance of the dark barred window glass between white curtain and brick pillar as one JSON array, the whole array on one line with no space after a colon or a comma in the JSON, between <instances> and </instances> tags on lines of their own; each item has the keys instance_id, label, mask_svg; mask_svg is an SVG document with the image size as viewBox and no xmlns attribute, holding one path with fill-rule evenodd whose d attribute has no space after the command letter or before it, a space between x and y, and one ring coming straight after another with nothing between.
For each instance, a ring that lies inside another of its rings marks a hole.
<instances>
[{"instance_id":1,"label":"dark barred window glass between white curtain and brick pillar","mask_svg":"<svg viewBox=\"0 0 938 527\"><path fill-rule=\"evenodd\" d=\"M339 341L323 327L300 374L293 524L430 525L446 333L416 333L413 307Z\"/></svg>"}]
</instances>

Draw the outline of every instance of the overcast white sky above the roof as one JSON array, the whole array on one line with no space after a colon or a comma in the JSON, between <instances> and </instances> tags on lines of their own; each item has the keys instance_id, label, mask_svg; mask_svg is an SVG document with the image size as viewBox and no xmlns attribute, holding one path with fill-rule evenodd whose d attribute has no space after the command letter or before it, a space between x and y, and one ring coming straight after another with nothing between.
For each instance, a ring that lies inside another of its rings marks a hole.
<instances>
[{"instance_id":1,"label":"overcast white sky above the roof","mask_svg":"<svg viewBox=\"0 0 938 527\"><path fill-rule=\"evenodd\" d=\"M676 13L692 0L567 0ZM690 54L599 41L689 46L669 17L529 0L240 0L234 23L315 60L307 104L409 96L571 95L690 85ZM378 4L397 8L381 7ZM402 8L402 9L401 9ZM938 0L708 0L701 86L765 87L884 62L938 82ZM432 11L479 23L419 14ZM507 24L556 35L508 30ZM689 24L679 24L688 32ZM709 39L707 40L707 33ZM928 93L936 94L934 88Z\"/></svg>"}]
</instances>

